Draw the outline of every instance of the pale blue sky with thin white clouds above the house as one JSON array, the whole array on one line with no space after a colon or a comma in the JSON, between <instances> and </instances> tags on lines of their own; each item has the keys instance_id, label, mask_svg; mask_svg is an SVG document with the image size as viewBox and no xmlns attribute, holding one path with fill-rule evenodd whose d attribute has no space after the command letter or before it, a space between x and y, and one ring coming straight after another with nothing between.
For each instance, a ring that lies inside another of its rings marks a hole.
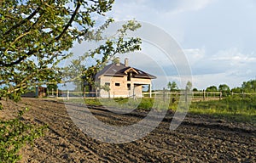
<instances>
[{"instance_id":1,"label":"pale blue sky with thin white clouds above the house","mask_svg":"<svg viewBox=\"0 0 256 163\"><path fill-rule=\"evenodd\" d=\"M116 21L146 22L166 31L188 60L193 87L241 87L242 82L256 78L254 0L116 0L107 16ZM165 63L166 56L150 43L143 43L142 48L137 55L121 58L129 58L130 65L159 76L156 87L179 81L177 63ZM159 69L152 67L153 62Z\"/></svg>"}]
</instances>

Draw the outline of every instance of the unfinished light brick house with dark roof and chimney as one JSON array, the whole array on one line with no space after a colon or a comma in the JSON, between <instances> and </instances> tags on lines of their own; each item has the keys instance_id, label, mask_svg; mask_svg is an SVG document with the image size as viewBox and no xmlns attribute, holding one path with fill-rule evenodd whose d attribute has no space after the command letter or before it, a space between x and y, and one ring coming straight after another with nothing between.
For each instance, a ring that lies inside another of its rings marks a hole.
<instances>
[{"instance_id":1,"label":"unfinished light brick house with dark roof and chimney","mask_svg":"<svg viewBox=\"0 0 256 163\"><path fill-rule=\"evenodd\" d=\"M151 97L151 80L155 78L156 76L129 66L128 59L125 59L125 64L120 63L118 59L117 63L107 65L97 73L96 81L101 86L107 85L110 88L109 91L99 90L98 96L101 98L142 98L143 85L148 85Z\"/></svg>"}]
</instances>

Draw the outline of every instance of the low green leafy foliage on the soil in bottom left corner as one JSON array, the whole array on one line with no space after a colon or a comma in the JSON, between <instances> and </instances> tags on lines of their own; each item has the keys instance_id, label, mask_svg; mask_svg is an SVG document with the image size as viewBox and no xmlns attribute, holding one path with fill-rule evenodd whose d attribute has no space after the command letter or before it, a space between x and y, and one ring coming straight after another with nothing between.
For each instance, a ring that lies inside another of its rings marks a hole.
<instances>
[{"instance_id":1,"label":"low green leafy foliage on the soil in bottom left corner","mask_svg":"<svg viewBox=\"0 0 256 163\"><path fill-rule=\"evenodd\" d=\"M20 121L24 112L9 121L0 121L0 160L1 162L16 162L21 159L18 155L20 148L26 143L32 143L35 138L44 135L47 126L33 126Z\"/></svg>"}]
</instances>

